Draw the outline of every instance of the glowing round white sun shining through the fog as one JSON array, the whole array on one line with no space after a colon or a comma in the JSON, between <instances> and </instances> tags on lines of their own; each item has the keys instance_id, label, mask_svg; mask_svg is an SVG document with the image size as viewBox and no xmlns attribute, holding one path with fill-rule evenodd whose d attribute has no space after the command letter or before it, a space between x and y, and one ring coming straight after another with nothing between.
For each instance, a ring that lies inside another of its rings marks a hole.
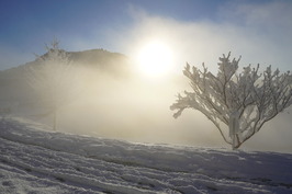
<instances>
[{"instance_id":1,"label":"glowing round white sun shining through the fog","mask_svg":"<svg viewBox=\"0 0 292 194\"><path fill-rule=\"evenodd\" d=\"M146 76L161 77L173 66L173 53L162 42L151 41L144 44L137 54L138 70Z\"/></svg>"}]
</instances>

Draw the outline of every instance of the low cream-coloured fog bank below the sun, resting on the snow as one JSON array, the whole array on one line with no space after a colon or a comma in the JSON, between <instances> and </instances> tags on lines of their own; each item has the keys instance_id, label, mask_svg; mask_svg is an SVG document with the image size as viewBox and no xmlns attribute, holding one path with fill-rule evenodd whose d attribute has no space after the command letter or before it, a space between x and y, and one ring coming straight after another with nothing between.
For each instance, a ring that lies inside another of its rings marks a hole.
<instances>
[{"instance_id":1,"label":"low cream-coloured fog bank below the sun, resting on the snow","mask_svg":"<svg viewBox=\"0 0 292 194\"><path fill-rule=\"evenodd\" d=\"M200 112L187 110L172 117L169 106L177 92L190 91L182 75L149 81L135 73L116 77L90 68L78 72L80 92L58 110L58 130L133 142L228 147ZM291 152L290 119L288 111L279 114L240 149ZM50 117L38 121L52 125Z\"/></svg>"}]
</instances>

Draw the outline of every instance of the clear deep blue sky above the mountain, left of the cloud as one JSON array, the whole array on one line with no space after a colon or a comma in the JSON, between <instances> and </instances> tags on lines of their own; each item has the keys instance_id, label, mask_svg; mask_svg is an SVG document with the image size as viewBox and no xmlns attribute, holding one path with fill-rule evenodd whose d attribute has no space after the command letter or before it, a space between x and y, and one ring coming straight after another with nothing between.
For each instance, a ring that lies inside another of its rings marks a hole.
<instances>
[{"instance_id":1,"label":"clear deep blue sky above the mountain, left of the cloud","mask_svg":"<svg viewBox=\"0 0 292 194\"><path fill-rule=\"evenodd\" d=\"M53 37L100 37L97 47L106 47L104 33L108 30L131 27L134 19L131 7L143 9L149 14L173 18L178 20L196 20L212 18L203 11L213 12L203 1L125 1L125 0L7 0L1 1L2 24L0 43L21 49L35 48ZM212 13L211 12L211 13ZM69 47L69 46L68 46Z\"/></svg>"}]
</instances>

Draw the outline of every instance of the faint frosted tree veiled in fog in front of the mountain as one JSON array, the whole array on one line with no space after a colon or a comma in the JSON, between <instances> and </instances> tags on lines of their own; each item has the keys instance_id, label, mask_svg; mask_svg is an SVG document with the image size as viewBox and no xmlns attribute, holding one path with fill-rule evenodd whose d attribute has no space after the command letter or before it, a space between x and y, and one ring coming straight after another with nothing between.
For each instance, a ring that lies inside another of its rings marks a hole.
<instances>
[{"instance_id":1,"label":"faint frosted tree veiled in fog in front of the mountain","mask_svg":"<svg viewBox=\"0 0 292 194\"><path fill-rule=\"evenodd\" d=\"M29 83L41 96L41 103L48 110L42 115L53 115L53 129L57 128L57 111L67 104L75 91L75 78L67 52L54 41L46 46L47 53L36 56L36 62L29 68Z\"/></svg>"}]
</instances>

